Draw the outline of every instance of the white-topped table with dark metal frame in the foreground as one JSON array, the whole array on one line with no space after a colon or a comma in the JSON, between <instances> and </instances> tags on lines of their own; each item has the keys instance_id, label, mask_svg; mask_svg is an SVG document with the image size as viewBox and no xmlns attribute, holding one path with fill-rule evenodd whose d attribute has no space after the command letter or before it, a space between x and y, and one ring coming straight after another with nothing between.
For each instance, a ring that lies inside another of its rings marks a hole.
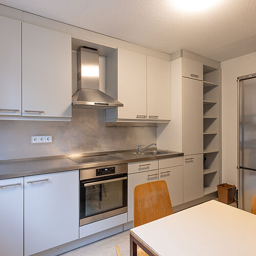
<instances>
[{"instance_id":1,"label":"white-topped table with dark metal frame in the foreground","mask_svg":"<svg viewBox=\"0 0 256 256\"><path fill-rule=\"evenodd\" d=\"M212 200L130 230L150 256L256 255L256 215Z\"/></svg>"}]
</instances>

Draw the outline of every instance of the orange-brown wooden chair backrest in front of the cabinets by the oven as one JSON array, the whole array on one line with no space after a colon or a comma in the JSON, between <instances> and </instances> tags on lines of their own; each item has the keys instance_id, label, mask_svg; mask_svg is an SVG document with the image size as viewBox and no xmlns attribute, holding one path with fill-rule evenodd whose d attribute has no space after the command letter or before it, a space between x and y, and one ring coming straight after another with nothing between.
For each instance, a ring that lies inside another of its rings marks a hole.
<instances>
[{"instance_id":1,"label":"orange-brown wooden chair backrest in front of the cabinets by the oven","mask_svg":"<svg viewBox=\"0 0 256 256\"><path fill-rule=\"evenodd\" d=\"M164 180L139 184L134 188L134 227L173 214Z\"/></svg>"}]
</instances>

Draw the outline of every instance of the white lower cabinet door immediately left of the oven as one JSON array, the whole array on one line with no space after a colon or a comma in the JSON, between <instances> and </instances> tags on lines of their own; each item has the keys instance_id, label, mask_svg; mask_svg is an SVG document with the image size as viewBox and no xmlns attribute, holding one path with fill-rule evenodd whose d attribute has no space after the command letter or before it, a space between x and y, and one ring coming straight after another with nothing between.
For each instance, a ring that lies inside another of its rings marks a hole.
<instances>
[{"instance_id":1,"label":"white lower cabinet door immediately left of the oven","mask_svg":"<svg viewBox=\"0 0 256 256\"><path fill-rule=\"evenodd\" d=\"M79 171L28 176L24 184L25 255L78 239Z\"/></svg>"}]
</instances>

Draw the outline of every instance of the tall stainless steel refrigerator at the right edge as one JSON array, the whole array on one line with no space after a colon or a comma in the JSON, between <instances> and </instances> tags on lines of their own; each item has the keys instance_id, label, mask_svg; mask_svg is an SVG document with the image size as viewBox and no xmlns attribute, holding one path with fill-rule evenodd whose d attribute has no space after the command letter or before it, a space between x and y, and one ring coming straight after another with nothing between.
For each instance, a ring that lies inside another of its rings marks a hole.
<instances>
[{"instance_id":1,"label":"tall stainless steel refrigerator at the right edge","mask_svg":"<svg viewBox=\"0 0 256 256\"><path fill-rule=\"evenodd\" d=\"M238 77L239 208L250 211L256 195L256 73Z\"/></svg>"}]
</instances>

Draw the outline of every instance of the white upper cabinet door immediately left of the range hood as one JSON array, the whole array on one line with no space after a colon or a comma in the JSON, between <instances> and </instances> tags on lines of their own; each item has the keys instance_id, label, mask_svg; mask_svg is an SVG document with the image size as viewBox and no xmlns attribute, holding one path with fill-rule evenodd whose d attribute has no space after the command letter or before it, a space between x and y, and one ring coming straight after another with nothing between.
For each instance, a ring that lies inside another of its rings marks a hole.
<instances>
[{"instance_id":1,"label":"white upper cabinet door immediately left of the range hood","mask_svg":"<svg viewBox=\"0 0 256 256\"><path fill-rule=\"evenodd\" d=\"M22 114L71 117L71 36L22 24Z\"/></svg>"}]
</instances>

